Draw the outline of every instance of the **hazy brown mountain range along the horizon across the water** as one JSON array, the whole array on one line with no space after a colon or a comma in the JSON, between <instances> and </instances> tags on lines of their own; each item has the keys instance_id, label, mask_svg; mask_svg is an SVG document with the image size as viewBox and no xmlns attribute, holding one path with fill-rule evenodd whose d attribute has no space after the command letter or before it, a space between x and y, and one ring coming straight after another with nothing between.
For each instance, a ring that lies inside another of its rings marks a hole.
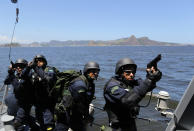
<instances>
[{"instance_id":1,"label":"hazy brown mountain range along the horizon across the water","mask_svg":"<svg viewBox=\"0 0 194 131\"><path fill-rule=\"evenodd\" d=\"M0 46L8 46L9 44L4 44ZM127 38L121 38L116 40L68 40L68 41L58 41L51 40L49 42L33 42L30 44L16 44L16 46L23 47L62 47L62 46L183 46L180 43L170 43L170 42L160 42L155 40L150 40L148 37L136 38L134 35L131 35ZM187 44L188 45L188 44ZM193 45L190 45L193 46Z\"/></svg>"}]
</instances>

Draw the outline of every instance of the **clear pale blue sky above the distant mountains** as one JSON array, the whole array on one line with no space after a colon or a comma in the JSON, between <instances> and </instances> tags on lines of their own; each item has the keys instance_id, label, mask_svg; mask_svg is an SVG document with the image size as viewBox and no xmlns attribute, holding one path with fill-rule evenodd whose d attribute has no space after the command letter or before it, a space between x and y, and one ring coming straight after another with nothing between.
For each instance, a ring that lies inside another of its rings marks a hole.
<instances>
[{"instance_id":1,"label":"clear pale blue sky above the distant mountains","mask_svg":"<svg viewBox=\"0 0 194 131\"><path fill-rule=\"evenodd\" d=\"M0 43L115 40L194 44L194 0L0 0Z\"/></svg>"}]
</instances>

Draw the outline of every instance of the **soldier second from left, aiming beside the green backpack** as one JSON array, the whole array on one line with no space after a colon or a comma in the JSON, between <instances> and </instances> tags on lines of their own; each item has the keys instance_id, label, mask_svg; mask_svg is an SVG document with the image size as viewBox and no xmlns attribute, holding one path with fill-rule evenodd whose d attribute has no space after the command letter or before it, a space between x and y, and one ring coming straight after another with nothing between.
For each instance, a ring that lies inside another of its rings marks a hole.
<instances>
[{"instance_id":1,"label":"soldier second from left, aiming beside the green backpack","mask_svg":"<svg viewBox=\"0 0 194 131\"><path fill-rule=\"evenodd\" d=\"M36 55L30 63L33 69L34 105L36 118L42 130L54 129L54 102L49 96L49 91L56 82L56 72L54 67L47 66L47 60L43 55Z\"/></svg>"}]
</instances>

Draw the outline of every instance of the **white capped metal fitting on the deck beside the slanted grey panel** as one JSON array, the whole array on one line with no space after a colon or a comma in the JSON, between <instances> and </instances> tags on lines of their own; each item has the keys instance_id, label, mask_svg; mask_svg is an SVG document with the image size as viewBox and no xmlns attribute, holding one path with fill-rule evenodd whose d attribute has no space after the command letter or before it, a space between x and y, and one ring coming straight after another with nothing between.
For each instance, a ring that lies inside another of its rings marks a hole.
<instances>
[{"instance_id":1,"label":"white capped metal fitting on the deck beside the slanted grey panel","mask_svg":"<svg viewBox=\"0 0 194 131\"><path fill-rule=\"evenodd\" d=\"M166 91L160 91L158 93L158 101L156 104L156 110L161 113L162 116L172 118L173 113L169 111L168 102L170 99L170 95Z\"/></svg>"}]
</instances>

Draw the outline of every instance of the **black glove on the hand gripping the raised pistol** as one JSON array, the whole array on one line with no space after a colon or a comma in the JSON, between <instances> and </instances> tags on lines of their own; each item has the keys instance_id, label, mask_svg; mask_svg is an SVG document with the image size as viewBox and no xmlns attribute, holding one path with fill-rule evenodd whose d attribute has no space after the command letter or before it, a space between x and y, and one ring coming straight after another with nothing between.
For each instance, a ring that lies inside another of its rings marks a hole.
<instances>
[{"instance_id":1,"label":"black glove on the hand gripping the raised pistol","mask_svg":"<svg viewBox=\"0 0 194 131\"><path fill-rule=\"evenodd\" d=\"M162 72L160 72L160 70L157 70L155 73L152 73L152 71L147 71L146 78L152 82L157 82L162 78Z\"/></svg>"}]
</instances>

